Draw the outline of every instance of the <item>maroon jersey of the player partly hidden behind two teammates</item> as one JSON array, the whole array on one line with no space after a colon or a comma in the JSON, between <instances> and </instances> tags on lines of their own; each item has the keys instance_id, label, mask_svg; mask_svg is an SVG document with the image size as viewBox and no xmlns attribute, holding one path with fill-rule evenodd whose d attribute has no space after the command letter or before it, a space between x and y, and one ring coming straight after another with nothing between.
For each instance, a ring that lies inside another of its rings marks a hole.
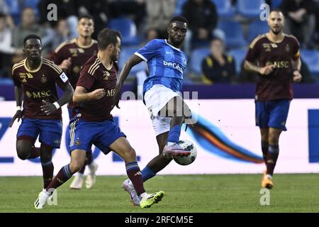
<instances>
[{"instance_id":1,"label":"maroon jersey of the player partly hidden behind two teammates","mask_svg":"<svg viewBox=\"0 0 319 227\"><path fill-rule=\"evenodd\" d=\"M89 60L92 55L96 55L97 52L98 45L96 40L92 40L90 45L82 46L79 45L77 39L74 38L59 45L51 55L50 60L55 62L56 65L60 65L63 60L67 60L71 57L71 65L67 69L67 77L69 77L69 82L75 89L77 80L79 79L79 72L84 63Z\"/></svg>"}]
</instances>

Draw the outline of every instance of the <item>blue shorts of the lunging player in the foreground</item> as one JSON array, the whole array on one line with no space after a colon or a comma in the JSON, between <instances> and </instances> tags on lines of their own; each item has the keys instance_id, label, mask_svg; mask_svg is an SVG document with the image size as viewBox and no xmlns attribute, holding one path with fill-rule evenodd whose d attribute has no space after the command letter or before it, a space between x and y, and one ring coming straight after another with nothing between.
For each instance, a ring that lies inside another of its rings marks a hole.
<instances>
[{"instance_id":1,"label":"blue shorts of the lunging player in the foreground","mask_svg":"<svg viewBox=\"0 0 319 227\"><path fill-rule=\"evenodd\" d=\"M104 154L118 138L126 137L113 121L83 121L76 118L69 123L69 150L90 150L94 144Z\"/></svg>"}]
</instances>

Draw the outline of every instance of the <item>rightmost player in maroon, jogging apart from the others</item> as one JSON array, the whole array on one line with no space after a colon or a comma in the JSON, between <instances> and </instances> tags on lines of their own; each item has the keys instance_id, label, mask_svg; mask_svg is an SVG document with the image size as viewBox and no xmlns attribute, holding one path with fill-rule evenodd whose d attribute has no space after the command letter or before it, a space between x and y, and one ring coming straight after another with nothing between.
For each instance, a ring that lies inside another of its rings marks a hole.
<instances>
[{"instance_id":1,"label":"rightmost player in maroon, jogging apart from the others","mask_svg":"<svg viewBox=\"0 0 319 227\"><path fill-rule=\"evenodd\" d=\"M258 72L255 95L256 126L262 135L262 153L267 170L262 187L273 187L272 175L279 155L279 135L286 131L289 105L293 99L292 82L300 82L301 60L298 40L283 33L284 15L269 14L269 33L259 35L250 44L245 70Z\"/></svg>"}]
</instances>

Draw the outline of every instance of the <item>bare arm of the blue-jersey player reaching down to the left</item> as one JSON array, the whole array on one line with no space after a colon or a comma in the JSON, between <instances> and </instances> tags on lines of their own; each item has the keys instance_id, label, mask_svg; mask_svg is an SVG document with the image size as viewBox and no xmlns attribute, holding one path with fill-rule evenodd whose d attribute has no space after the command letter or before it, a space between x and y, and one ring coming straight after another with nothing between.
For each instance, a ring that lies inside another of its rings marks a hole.
<instances>
[{"instance_id":1,"label":"bare arm of the blue-jersey player reaching down to the left","mask_svg":"<svg viewBox=\"0 0 319 227\"><path fill-rule=\"evenodd\" d=\"M118 81L116 82L116 92L113 96L113 108L114 106L116 106L118 109L120 108L120 106L118 106L118 102L120 101L120 94L124 81L128 77L132 67L134 67L134 65L138 65L140 62L142 62L142 58L138 57L137 55L132 55L123 65L120 77L118 77Z\"/></svg>"}]
</instances>

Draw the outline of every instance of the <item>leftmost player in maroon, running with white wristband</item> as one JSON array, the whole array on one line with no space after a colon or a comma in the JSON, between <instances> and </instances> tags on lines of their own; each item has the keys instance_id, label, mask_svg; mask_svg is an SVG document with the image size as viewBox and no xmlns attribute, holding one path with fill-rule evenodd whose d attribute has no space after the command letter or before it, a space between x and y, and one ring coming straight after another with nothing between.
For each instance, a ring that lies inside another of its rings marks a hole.
<instances>
[{"instance_id":1,"label":"leftmost player in maroon, running with white wristband","mask_svg":"<svg viewBox=\"0 0 319 227\"><path fill-rule=\"evenodd\" d=\"M26 160L40 156L43 188L46 188L53 177L52 150L60 148L60 106L72 99L73 89L65 72L50 60L41 57L41 40L37 35L26 36L23 45L26 59L12 68L17 111L11 119L10 127L16 118L18 121L22 118L16 140L18 157ZM56 84L65 91L60 99L57 97ZM41 145L40 148L35 148L38 135Z\"/></svg>"}]
</instances>

